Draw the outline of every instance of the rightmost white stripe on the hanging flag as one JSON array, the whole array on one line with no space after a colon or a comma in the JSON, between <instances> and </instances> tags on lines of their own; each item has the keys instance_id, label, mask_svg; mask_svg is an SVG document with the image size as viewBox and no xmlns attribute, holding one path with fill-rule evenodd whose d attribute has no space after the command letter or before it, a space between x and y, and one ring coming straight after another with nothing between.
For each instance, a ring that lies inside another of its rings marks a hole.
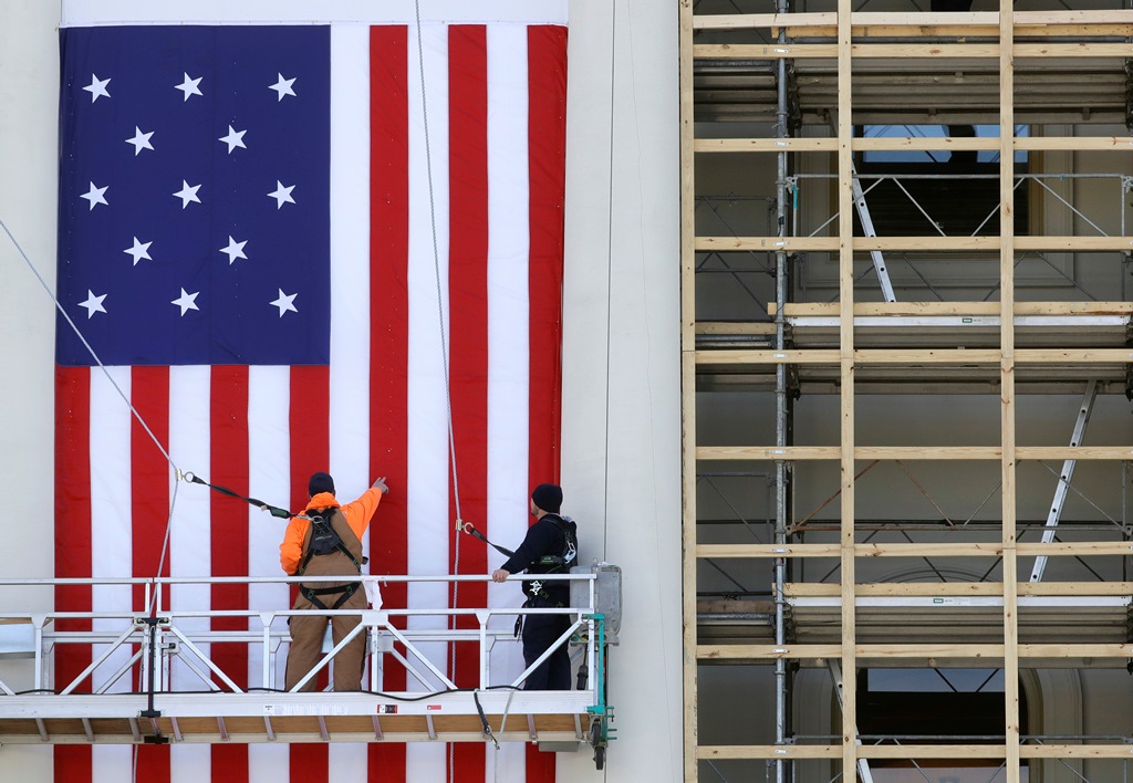
<instances>
[{"instance_id":1,"label":"rightmost white stripe on the hanging flag","mask_svg":"<svg viewBox=\"0 0 1133 783\"><path fill-rule=\"evenodd\" d=\"M527 530L528 460L528 180L527 29L489 27L488 80L488 521L489 539L516 548ZM536 380L537 382L537 380ZM517 423L522 423L517 426ZM503 555L488 552L494 570ZM518 606L519 586L488 588L489 606ZM495 618L511 629L514 619ZM504 684L523 670L518 644L496 645L491 683ZM496 769L499 765L499 771ZM499 777L497 777L499 772ZM505 743L487 754L485 780L522 781L526 749Z\"/></svg>"}]
</instances>

